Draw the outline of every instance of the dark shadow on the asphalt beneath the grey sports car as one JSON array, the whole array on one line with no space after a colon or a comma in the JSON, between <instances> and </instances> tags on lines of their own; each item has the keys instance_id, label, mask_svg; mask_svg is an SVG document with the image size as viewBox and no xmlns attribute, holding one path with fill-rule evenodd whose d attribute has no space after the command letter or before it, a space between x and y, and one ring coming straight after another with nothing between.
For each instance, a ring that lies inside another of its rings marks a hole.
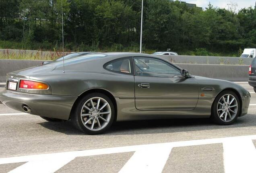
<instances>
[{"instance_id":1,"label":"dark shadow on the asphalt beneath the grey sports car","mask_svg":"<svg viewBox=\"0 0 256 173\"><path fill-rule=\"evenodd\" d=\"M65 122L43 122L39 125L64 133L66 135L83 135L73 127L70 121ZM233 125L221 126L216 125L210 119L164 119L164 120L147 120L147 121L126 121L114 123L103 135L134 135L134 134L151 134L151 133L176 133L186 131L229 129L237 127L255 127L256 115L248 114L239 117Z\"/></svg>"}]
</instances>

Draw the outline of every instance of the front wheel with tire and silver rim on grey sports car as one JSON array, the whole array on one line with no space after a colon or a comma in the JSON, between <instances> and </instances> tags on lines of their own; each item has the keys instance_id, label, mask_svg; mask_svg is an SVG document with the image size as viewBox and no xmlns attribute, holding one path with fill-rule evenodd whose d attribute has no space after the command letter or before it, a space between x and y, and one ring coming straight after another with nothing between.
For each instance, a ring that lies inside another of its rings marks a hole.
<instances>
[{"instance_id":1,"label":"front wheel with tire and silver rim on grey sports car","mask_svg":"<svg viewBox=\"0 0 256 173\"><path fill-rule=\"evenodd\" d=\"M223 91L215 98L211 119L219 125L230 125L237 119L240 111L238 96L233 91Z\"/></svg>"}]
</instances>

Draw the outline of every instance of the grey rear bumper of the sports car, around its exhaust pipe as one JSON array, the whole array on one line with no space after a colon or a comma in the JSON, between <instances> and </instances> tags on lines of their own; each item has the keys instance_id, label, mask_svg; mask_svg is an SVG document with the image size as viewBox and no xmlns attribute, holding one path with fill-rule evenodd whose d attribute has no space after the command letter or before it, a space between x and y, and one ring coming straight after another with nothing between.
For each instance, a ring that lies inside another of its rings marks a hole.
<instances>
[{"instance_id":1,"label":"grey rear bumper of the sports car, around its exhaust pipe","mask_svg":"<svg viewBox=\"0 0 256 173\"><path fill-rule=\"evenodd\" d=\"M75 96L27 94L6 89L0 93L0 102L11 109L23 111L23 105L27 105L33 115L64 120L69 119L76 99Z\"/></svg>"}]
</instances>

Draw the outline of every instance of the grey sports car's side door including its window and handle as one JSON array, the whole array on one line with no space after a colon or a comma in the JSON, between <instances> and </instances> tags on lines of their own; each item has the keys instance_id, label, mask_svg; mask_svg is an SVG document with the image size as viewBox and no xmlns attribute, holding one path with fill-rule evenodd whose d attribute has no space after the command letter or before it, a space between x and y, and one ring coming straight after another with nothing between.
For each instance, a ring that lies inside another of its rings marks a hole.
<instances>
[{"instance_id":1,"label":"grey sports car's side door including its window and handle","mask_svg":"<svg viewBox=\"0 0 256 173\"><path fill-rule=\"evenodd\" d=\"M135 106L138 110L192 110L198 102L198 82L158 58L134 57Z\"/></svg>"}]
</instances>

